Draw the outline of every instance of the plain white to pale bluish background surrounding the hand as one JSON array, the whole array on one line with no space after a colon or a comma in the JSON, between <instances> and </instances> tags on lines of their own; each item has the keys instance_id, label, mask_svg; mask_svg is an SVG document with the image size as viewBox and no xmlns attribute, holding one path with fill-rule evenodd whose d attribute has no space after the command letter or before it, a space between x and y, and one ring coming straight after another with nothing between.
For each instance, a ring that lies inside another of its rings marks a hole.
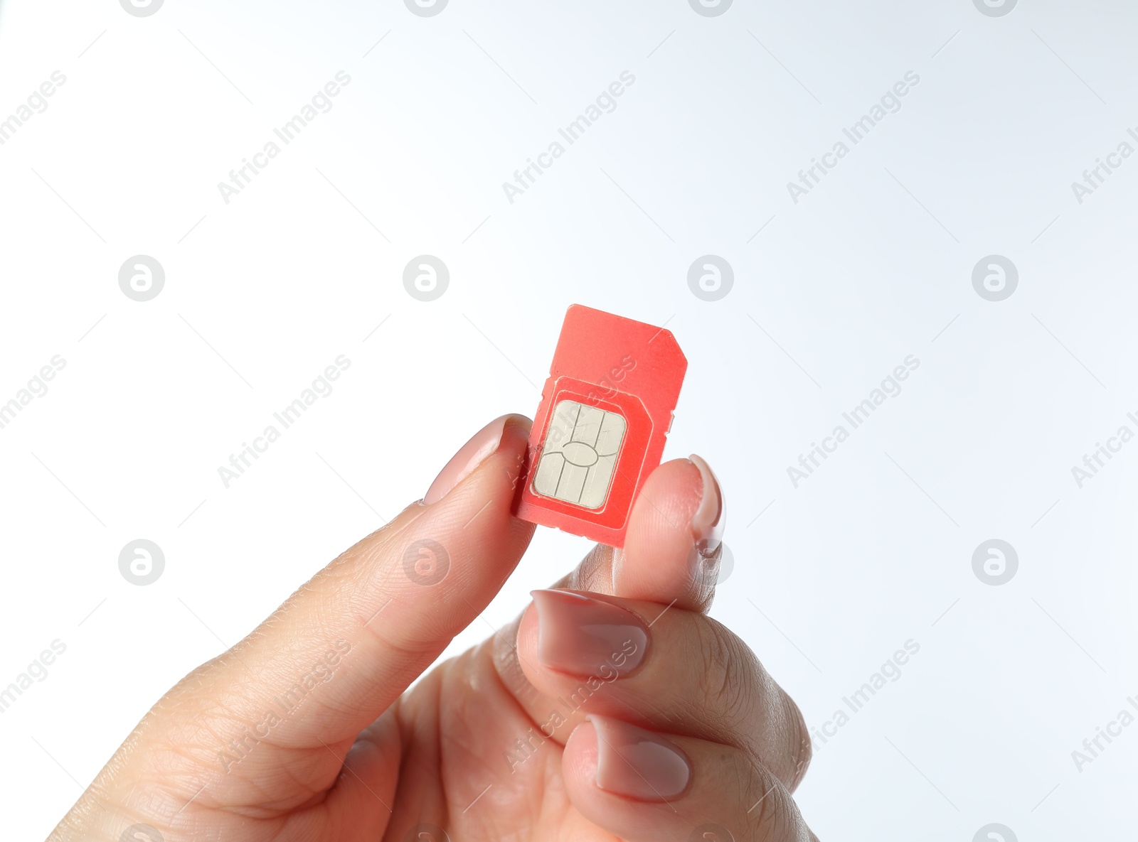
<instances>
[{"instance_id":1,"label":"plain white to pale bluish background surrounding the hand","mask_svg":"<svg viewBox=\"0 0 1138 842\"><path fill-rule=\"evenodd\" d=\"M479 426L531 415L572 302L676 334L666 458L715 467L736 560L714 615L813 726L920 643L816 747L797 798L822 839L1132 828L1138 727L1081 772L1071 752L1138 694L1138 443L1081 489L1071 468L1138 432L1138 157L1081 205L1071 182L1138 126L1136 35L1122 0L2 0L0 119L67 77L0 147L0 402L66 359L0 430L0 685L67 647L0 715L8 835L44 836L171 684ZM335 107L226 205L217 183L337 70ZM502 183L622 70L511 205ZM908 70L795 205L786 182ZM139 253L166 273L148 302L117 282ZM451 272L436 301L403 287L421 253ZM735 273L715 302L686 281L707 253ZM1020 273L1000 302L972 286L991 253ZM338 355L335 391L225 489ZM795 489L787 466L907 355L902 393ZM138 537L166 558L146 587L117 566ZM1001 586L972 569L992 537L1019 555ZM585 550L539 530L485 618Z\"/></svg>"}]
</instances>

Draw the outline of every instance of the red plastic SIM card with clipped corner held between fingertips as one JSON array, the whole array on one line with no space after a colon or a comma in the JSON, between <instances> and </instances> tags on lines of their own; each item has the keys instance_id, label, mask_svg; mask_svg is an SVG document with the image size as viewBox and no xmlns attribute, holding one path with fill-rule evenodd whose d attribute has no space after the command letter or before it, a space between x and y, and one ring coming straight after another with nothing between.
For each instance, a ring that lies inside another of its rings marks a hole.
<instances>
[{"instance_id":1,"label":"red plastic SIM card with clipped corner held between fingertips","mask_svg":"<svg viewBox=\"0 0 1138 842\"><path fill-rule=\"evenodd\" d=\"M529 433L513 514L624 547L687 370L662 327L572 305Z\"/></svg>"}]
</instances>

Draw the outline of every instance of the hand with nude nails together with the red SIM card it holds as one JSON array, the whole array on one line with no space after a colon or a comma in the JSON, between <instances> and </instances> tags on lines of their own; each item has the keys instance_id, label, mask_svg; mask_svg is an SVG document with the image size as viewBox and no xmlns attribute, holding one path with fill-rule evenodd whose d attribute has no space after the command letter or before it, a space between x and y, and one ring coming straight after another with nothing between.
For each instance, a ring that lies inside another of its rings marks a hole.
<instances>
[{"instance_id":1,"label":"hand with nude nails together with the red SIM card it holds","mask_svg":"<svg viewBox=\"0 0 1138 842\"><path fill-rule=\"evenodd\" d=\"M668 331L569 308L536 422L484 426L420 500L191 673L51 840L110 839L96 826L108 802L147 822L115 839L170 842L190 839L165 824L179 811L214 839L259 822L262 836L294 823L318 841L345 827L388 842L815 840L790 797L805 722L707 616L723 490L696 455L659 464L685 368ZM512 623L440 658L535 523L601 543ZM220 750L184 751L211 717Z\"/></svg>"}]
</instances>

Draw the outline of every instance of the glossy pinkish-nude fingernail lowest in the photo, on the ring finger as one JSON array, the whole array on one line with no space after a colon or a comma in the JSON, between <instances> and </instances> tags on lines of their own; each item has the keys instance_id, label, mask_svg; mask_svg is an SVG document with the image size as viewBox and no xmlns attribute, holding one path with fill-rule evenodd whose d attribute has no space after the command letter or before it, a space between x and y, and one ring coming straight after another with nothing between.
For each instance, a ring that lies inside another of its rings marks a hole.
<instances>
[{"instance_id":1,"label":"glossy pinkish-nude fingernail lowest in the photo, on the ring finger","mask_svg":"<svg viewBox=\"0 0 1138 842\"><path fill-rule=\"evenodd\" d=\"M635 725L588 716L596 728L596 785L641 801L666 801L687 789L692 766L673 742Z\"/></svg>"}]
</instances>

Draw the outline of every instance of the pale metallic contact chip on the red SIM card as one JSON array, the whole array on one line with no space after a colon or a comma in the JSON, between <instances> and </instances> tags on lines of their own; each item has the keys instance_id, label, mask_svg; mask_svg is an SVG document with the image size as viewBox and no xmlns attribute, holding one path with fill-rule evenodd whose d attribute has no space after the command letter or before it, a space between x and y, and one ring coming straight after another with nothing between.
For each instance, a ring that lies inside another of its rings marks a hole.
<instances>
[{"instance_id":1,"label":"pale metallic contact chip on the red SIM card","mask_svg":"<svg viewBox=\"0 0 1138 842\"><path fill-rule=\"evenodd\" d=\"M625 437L624 416L575 400L558 401L534 473L535 494L599 509L609 495Z\"/></svg>"}]
</instances>

